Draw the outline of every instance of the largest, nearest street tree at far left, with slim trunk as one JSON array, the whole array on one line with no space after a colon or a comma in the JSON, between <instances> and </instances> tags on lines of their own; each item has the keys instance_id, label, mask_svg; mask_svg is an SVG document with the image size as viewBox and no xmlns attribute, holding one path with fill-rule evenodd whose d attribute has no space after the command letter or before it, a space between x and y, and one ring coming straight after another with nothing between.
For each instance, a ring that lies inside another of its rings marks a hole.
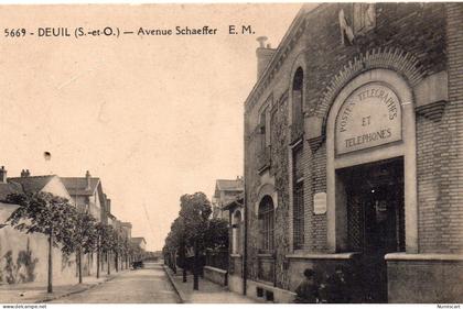
<instances>
[{"instance_id":1,"label":"largest, nearest street tree at far left, with slim trunk","mask_svg":"<svg viewBox=\"0 0 463 309\"><path fill-rule=\"evenodd\" d=\"M49 238L47 291L53 293L53 246L64 244L75 228L74 207L68 200L49 192L11 194L8 203L18 205L8 218L12 227L26 233L42 233Z\"/></svg>"}]
</instances>

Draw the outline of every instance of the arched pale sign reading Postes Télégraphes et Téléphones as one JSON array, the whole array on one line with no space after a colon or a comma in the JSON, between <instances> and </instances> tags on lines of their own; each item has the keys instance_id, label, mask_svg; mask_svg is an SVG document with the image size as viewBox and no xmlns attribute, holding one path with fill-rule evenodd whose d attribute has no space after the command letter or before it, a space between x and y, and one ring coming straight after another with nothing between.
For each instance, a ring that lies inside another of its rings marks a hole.
<instances>
[{"instance_id":1,"label":"arched pale sign reading Postes T\u00e9l\u00e9graphes et T\u00e9l\u00e9phones","mask_svg":"<svg viewBox=\"0 0 463 309\"><path fill-rule=\"evenodd\" d=\"M400 141L399 98L386 85L367 84L344 101L335 130L336 154Z\"/></svg>"}]
</instances>

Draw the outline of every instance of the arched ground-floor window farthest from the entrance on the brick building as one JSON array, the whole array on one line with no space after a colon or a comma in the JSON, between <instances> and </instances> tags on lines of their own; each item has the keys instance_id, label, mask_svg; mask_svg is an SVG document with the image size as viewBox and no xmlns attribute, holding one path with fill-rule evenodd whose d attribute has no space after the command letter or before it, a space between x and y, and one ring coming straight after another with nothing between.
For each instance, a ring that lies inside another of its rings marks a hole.
<instances>
[{"instance_id":1,"label":"arched ground-floor window farthest from the entrance on the brick building","mask_svg":"<svg viewBox=\"0 0 463 309\"><path fill-rule=\"evenodd\" d=\"M265 196L259 205L260 251L262 253L273 250L273 201Z\"/></svg>"}]
</instances>

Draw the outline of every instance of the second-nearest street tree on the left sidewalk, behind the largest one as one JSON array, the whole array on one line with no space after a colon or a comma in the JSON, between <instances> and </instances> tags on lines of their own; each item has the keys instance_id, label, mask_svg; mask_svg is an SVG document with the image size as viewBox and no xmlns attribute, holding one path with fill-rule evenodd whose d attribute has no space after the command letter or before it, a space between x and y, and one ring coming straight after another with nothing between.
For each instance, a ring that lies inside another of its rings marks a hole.
<instances>
[{"instance_id":1,"label":"second-nearest street tree on the left sidewalk, behind the largest one","mask_svg":"<svg viewBox=\"0 0 463 309\"><path fill-rule=\"evenodd\" d=\"M98 234L96 230L96 219L86 211L76 208L71 212L74 221L74 230L63 244L66 253L76 253L78 267L78 283L82 284L82 255L94 252L97 246Z\"/></svg>"}]
</instances>

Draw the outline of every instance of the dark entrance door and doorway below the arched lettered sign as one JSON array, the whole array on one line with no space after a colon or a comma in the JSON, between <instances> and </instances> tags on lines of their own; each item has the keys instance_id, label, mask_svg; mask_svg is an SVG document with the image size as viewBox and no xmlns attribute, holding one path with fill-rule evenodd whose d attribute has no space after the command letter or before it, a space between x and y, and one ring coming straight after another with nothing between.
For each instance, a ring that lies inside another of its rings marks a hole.
<instances>
[{"instance_id":1,"label":"dark entrance door and doorway below the arched lettered sign","mask_svg":"<svg viewBox=\"0 0 463 309\"><path fill-rule=\"evenodd\" d=\"M405 249L402 161L351 167L341 175L347 197L348 244L363 253L364 301L387 302L384 257Z\"/></svg>"}]
</instances>

